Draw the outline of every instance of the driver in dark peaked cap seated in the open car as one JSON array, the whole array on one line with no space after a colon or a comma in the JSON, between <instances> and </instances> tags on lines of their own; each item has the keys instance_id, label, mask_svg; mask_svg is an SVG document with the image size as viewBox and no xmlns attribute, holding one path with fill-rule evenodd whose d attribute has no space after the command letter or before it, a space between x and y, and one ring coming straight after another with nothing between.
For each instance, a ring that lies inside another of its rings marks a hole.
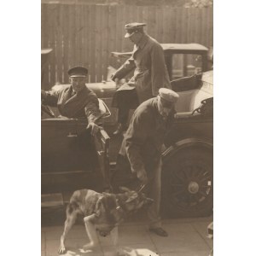
<instances>
[{"instance_id":1,"label":"driver in dark peaked cap seated in the open car","mask_svg":"<svg viewBox=\"0 0 256 256\"><path fill-rule=\"evenodd\" d=\"M96 94L89 90L85 84L88 70L85 67L73 67L67 73L70 86L61 90L41 90L42 103L51 107L58 107L61 115L67 118L87 117L87 128L94 136L101 128L98 125L101 112Z\"/></svg>"}]
</instances>

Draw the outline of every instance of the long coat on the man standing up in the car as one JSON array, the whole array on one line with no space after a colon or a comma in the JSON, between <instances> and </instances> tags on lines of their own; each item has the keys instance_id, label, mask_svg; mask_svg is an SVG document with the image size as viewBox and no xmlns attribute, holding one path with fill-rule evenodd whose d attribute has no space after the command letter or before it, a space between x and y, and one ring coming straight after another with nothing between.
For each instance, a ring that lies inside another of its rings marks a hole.
<instances>
[{"instance_id":1,"label":"long coat on the man standing up in the car","mask_svg":"<svg viewBox=\"0 0 256 256\"><path fill-rule=\"evenodd\" d=\"M133 77L119 90L131 90L135 87L139 102L157 96L158 90L162 87L170 87L164 50L154 38L146 34L137 45L134 45L131 58L113 74L113 80L124 78L134 68Z\"/></svg>"}]
</instances>

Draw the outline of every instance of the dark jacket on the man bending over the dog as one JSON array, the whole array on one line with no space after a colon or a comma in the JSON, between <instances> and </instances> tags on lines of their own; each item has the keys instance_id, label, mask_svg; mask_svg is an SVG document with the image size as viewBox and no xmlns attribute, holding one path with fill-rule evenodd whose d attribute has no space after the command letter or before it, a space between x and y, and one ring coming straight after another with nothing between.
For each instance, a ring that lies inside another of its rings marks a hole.
<instances>
[{"instance_id":1,"label":"dark jacket on the man bending over the dog","mask_svg":"<svg viewBox=\"0 0 256 256\"><path fill-rule=\"evenodd\" d=\"M152 172L160 160L161 148L170 131L175 110L166 120L157 107L158 98L143 102L134 112L119 154L127 156L132 172Z\"/></svg>"}]
</instances>

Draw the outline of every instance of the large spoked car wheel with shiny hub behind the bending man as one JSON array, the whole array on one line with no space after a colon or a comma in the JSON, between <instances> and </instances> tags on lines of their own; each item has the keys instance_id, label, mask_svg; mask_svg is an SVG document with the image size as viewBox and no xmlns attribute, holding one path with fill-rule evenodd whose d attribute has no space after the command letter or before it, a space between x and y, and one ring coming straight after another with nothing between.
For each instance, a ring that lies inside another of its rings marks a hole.
<instances>
[{"instance_id":1,"label":"large spoked car wheel with shiny hub behind the bending man","mask_svg":"<svg viewBox=\"0 0 256 256\"><path fill-rule=\"evenodd\" d=\"M163 215L204 217L212 214L212 152L183 149L166 159L162 174Z\"/></svg>"}]
</instances>

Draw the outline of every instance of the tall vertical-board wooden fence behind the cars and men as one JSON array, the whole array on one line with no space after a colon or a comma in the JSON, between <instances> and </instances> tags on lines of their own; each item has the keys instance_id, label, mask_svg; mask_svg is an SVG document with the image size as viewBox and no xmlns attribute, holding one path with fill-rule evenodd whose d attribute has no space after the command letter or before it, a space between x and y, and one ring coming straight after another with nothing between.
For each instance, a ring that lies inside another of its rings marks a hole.
<instances>
[{"instance_id":1,"label":"tall vertical-board wooden fence behind the cars and men","mask_svg":"<svg viewBox=\"0 0 256 256\"><path fill-rule=\"evenodd\" d=\"M69 67L89 68L89 82L106 79L111 51L131 51L125 24L145 22L160 43L213 44L212 8L42 3L41 47L52 48L42 87L68 83Z\"/></svg>"}]
</instances>

